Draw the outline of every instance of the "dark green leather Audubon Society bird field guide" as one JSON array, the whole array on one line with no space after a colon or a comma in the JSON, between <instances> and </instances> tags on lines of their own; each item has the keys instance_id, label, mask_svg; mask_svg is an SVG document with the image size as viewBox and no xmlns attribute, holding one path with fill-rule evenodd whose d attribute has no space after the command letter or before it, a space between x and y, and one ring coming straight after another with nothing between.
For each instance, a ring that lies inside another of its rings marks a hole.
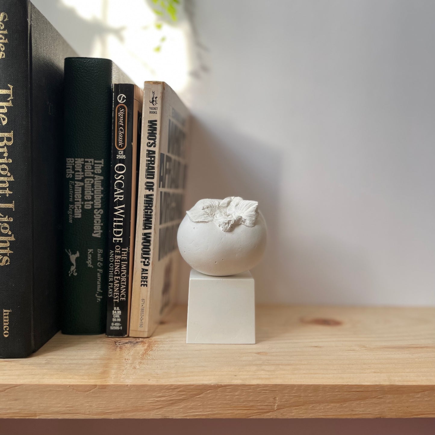
<instances>
[{"instance_id":1,"label":"dark green leather Audubon Society bird field guide","mask_svg":"<svg viewBox=\"0 0 435 435\"><path fill-rule=\"evenodd\" d=\"M111 60L65 59L64 334L106 330L112 84L117 82L131 80Z\"/></svg>"}]
</instances>

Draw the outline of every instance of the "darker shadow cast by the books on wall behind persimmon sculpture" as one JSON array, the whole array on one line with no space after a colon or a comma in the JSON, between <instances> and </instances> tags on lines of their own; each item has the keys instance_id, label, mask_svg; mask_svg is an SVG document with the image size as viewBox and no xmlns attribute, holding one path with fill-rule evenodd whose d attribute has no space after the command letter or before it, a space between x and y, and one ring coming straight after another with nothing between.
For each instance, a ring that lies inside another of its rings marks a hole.
<instances>
[{"instance_id":1,"label":"darker shadow cast by the books on wall behind persimmon sculpture","mask_svg":"<svg viewBox=\"0 0 435 435\"><path fill-rule=\"evenodd\" d=\"M268 227L264 258L253 269L256 299L268 301L275 291L274 278L278 271L278 204L281 184L281 155L268 144L243 136L225 122L225 140L218 137L197 118L191 128L191 158L187 180L186 209L203 198L223 199L241 196L258 201L258 207ZM181 286L178 299L187 302L190 267L181 266Z\"/></svg>"}]
</instances>

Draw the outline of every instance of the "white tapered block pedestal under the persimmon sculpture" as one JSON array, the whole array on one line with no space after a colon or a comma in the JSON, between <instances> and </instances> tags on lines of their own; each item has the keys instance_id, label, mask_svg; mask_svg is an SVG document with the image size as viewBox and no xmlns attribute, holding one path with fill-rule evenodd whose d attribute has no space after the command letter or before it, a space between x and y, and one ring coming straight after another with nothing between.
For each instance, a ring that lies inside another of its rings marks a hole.
<instances>
[{"instance_id":1,"label":"white tapered block pedestal under the persimmon sculpture","mask_svg":"<svg viewBox=\"0 0 435 435\"><path fill-rule=\"evenodd\" d=\"M191 270L186 343L255 343L251 272L210 276Z\"/></svg>"}]
</instances>

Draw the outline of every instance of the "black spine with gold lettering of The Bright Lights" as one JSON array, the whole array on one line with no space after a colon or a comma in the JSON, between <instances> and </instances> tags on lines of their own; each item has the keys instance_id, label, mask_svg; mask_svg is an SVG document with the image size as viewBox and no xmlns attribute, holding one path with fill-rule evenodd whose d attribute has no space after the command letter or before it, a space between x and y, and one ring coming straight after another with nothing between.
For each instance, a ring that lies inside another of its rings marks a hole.
<instances>
[{"instance_id":1,"label":"black spine with gold lettering of The Bright Lights","mask_svg":"<svg viewBox=\"0 0 435 435\"><path fill-rule=\"evenodd\" d=\"M0 3L0 358L33 351L28 3Z\"/></svg>"}]
</instances>

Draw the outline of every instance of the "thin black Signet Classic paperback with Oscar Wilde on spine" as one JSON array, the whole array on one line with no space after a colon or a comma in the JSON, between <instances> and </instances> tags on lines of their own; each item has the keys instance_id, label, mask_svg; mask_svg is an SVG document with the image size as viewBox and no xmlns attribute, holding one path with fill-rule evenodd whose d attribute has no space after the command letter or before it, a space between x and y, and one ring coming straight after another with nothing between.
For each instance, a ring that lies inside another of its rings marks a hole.
<instances>
[{"instance_id":1,"label":"thin black Signet Classic paperback with Oscar Wilde on spine","mask_svg":"<svg viewBox=\"0 0 435 435\"><path fill-rule=\"evenodd\" d=\"M110 337L127 336L130 326L142 101L143 91L136 85L114 85L106 327Z\"/></svg>"}]
</instances>

